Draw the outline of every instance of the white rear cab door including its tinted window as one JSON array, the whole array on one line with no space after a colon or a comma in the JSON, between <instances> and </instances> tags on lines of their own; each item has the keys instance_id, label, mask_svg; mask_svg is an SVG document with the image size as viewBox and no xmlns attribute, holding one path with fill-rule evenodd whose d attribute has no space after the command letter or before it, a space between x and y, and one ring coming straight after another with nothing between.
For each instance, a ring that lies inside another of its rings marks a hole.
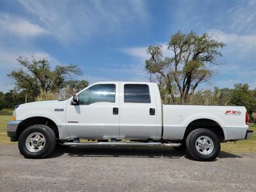
<instances>
[{"instance_id":1,"label":"white rear cab door including its tinted window","mask_svg":"<svg viewBox=\"0 0 256 192\"><path fill-rule=\"evenodd\" d=\"M157 138L154 86L120 83L120 138Z\"/></svg>"}]
</instances>

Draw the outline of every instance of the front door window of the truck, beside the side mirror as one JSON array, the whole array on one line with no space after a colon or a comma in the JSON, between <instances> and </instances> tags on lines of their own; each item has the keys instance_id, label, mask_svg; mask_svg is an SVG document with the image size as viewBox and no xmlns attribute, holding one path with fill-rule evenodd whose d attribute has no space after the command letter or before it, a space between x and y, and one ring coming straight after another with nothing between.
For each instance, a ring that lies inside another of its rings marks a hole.
<instances>
[{"instance_id":1,"label":"front door window of the truck, beside the side mirror","mask_svg":"<svg viewBox=\"0 0 256 192\"><path fill-rule=\"evenodd\" d=\"M115 84L95 84L79 94L79 104L90 105L93 102L115 102Z\"/></svg>"}]
</instances>

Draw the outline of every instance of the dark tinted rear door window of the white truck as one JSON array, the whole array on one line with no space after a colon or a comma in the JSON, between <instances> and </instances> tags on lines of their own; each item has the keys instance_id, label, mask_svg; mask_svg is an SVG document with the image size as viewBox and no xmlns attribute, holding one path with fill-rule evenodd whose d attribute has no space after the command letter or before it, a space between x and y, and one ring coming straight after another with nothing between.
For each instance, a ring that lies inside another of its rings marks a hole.
<instances>
[{"instance_id":1,"label":"dark tinted rear door window of the white truck","mask_svg":"<svg viewBox=\"0 0 256 192\"><path fill-rule=\"evenodd\" d=\"M150 94L147 84L125 84L124 102L150 103Z\"/></svg>"}]
</instances>

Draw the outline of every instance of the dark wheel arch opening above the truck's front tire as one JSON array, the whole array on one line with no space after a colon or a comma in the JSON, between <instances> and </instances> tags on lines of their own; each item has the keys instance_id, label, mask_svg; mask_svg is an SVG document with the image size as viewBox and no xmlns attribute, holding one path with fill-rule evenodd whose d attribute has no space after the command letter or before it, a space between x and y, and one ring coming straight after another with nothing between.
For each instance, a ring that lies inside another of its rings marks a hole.
<instances>
[{"instance_id":1,"label":"dark wheel arch opening above the truck's front tire","mask_svg":"<svg viewBox=\"0 0 256 192\"><path fill-rule=\"evenodd\" d=\"M26 128L28 128L31 125L38 125L38 124L47 125L52 129L52 131L54 131L54 134L57 139L60 137L58 126L53 120L45 116L32 116L20 122L19 126L17 127L16 141L19 140L19 136L22 131L24 131Z\"/></svg>"}]
</instances>

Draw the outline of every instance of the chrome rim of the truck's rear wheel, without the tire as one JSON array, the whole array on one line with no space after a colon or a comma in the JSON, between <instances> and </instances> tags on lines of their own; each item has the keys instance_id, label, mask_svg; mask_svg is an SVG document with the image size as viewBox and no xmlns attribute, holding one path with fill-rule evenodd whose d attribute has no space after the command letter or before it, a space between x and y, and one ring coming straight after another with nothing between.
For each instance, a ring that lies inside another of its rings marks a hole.
<instances>
[{"instance_id":1,"label":"chrome rim of the truck's rear wheel, without the tire","mask_svg":"<svg viewBox=\"0 0 256 192\"><path fill-rule=\"evenodd\" d=\"M209 155L214 149L214 143L208 136L200 136L196 140L196 150L202 155Z\"/></svg>"}]
</instances>

